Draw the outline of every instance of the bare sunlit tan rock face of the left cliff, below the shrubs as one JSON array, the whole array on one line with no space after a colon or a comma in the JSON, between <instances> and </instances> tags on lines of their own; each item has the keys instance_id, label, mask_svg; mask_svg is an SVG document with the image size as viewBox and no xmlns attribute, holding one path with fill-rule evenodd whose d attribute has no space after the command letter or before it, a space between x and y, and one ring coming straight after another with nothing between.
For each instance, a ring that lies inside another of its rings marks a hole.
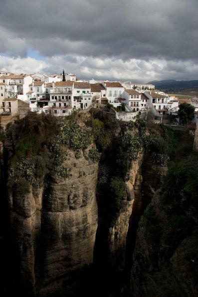
<instances>
[{"instance_id":1,"label":"bare sunlit tan rock face of the left cliff, below the shrubs","mask_svg":"<svg viewBox=\"0 0 198 297\"><path fill-rule=\"evenodd\" d=\"M68 150L66 179L49 174L46 189L9 195L12 234L28 292L61 291L61 278L93 262L98 165Z\"/></svg>"}]
</instances>

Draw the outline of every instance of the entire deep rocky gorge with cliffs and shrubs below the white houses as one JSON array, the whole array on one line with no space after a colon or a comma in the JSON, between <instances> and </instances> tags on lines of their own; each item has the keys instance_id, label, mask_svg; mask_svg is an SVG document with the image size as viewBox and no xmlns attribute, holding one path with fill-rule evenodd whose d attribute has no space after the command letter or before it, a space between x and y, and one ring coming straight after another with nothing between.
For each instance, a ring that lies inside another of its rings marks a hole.
<instances>
[{"instance_id":1,"label":"entire deep rocky gorge with cliffs and shrubs below the white houses","mask_svg":"<svg viewBox=\"0 0 198 297\"><path fill-rule=\"evenodd\" d=\"M197 296L197 133L102 109L8 125L4 295Z\"/></svg>"}]
</instances>

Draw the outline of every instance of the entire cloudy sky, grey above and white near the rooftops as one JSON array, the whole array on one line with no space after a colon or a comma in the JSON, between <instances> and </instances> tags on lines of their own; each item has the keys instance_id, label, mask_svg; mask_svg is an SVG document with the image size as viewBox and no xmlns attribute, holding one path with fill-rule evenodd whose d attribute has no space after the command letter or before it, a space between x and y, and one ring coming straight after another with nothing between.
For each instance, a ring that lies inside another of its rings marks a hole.
<instances>
[{"instance_id":1,"label":"entire cloudy sky, grey above and white near the rooftops","mask_svg":"<svg viewBox=\"0 0 198 297\"><path fill-rule=\"evenodd\" d=\"M198 79L198 0L0 0L0 69Z\"/></svg>"}]
</instances>

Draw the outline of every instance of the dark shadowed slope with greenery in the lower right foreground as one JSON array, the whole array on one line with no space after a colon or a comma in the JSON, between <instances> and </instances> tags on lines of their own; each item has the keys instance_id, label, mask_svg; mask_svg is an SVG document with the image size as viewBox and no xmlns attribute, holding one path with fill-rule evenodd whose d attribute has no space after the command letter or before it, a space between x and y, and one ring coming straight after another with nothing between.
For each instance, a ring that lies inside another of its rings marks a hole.
<instances>
[{"instance_id":1,"label":"dark shadowed slope with greenery in the lower right foreground","mask_svg":"<svg viewBox=\"0 0 198 297\"><path fill-rule=\"evenodd\" d=\"M134 296L198 295L198 156L169 169L142 216L131 275Z\"/></svg>"}]
</instances>

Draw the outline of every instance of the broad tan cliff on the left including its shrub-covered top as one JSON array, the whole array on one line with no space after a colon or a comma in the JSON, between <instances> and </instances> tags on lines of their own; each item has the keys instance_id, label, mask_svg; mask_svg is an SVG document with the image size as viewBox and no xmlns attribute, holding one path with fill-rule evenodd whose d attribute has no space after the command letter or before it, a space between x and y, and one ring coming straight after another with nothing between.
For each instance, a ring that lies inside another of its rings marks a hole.
<instances>
[{"instance_id":1,"label":"broad tan cliff on the left including its shrub-covered top","mask_svg":"<svg viewBox=\"0 0 198 297\"><path fill-rule=\"evenodd\" d=\"M25 126L23 126L24 121L27 121ZM41 142L45 142L42 144L44 150L41 150L41 145L39 153L38 151L37 154L32 153L33 163L30 163L28 157L24 161L20 153L25 143L21 145L20 139L25 135L25 141L28 142L29 131L25 129L28 127L29 130L32 121L33 127L36 125L37 128L30 132L33 133L31 137L36 143L37 134L39 138L42 134L40 126L45 125L45 122L31 114L15 126L10 126L4 142L10 168L8 175L10 224L23 293L26 292L28 296L47 296L49 293L57 294L59 291L64 291L63 284L70 279L71 273L93 262L98 221L96 203L98 163L89 157L92 149L91 140L90 145L78 151L72 149L71 143L70 145L61 143L63 154L61 151L57 152L57 147L54 150L54 144L53 148L50 148L52 145L50 146L49 140L47 149L46 137L49 137L49 134L47 135L45 129L42 130L44 134L41 137ZM20 126L19 132L17 125ZM49 128L53 129L51 124ZM83 128L76 126L75 133L80 133L82 130ZM57 135L65 137L64 128L61 131L56 131ZM57 135L53 137L59 137ZM81 136L75 134L73 137ZM28 151L30 149L32 148L28 146ZM40 155L42 159L46 158L45 168L42 167ZM61 165L57 164L57 156L61 157ZM40 162L38 167L35 165L37 157ZM37 171L40 173L39 183L37 183Z\"/></svg>"}]
</instances>

